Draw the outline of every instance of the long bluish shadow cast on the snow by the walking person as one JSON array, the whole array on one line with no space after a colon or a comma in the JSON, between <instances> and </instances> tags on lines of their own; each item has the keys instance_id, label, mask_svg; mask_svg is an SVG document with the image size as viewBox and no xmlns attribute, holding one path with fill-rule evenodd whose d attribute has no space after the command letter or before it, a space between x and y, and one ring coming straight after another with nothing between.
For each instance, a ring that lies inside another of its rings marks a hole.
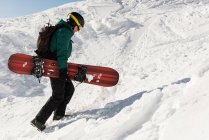
<instances>
[{"instance_id":1,"label":"long bluish shadow cast on the snow by the walking person","mask_svg":"<svg viewBox=\"0 0 209 140\"><path fill-rule=\"evenodd\" d=\"M191 80L191 78L184 78L184 79L181 79L181 80L171 83L171 85L186 84L186 83L190 82L190 80ZM169 85L163 85L162 87L158 87L156 89L163 90L167 86L169 86ZM156 89L154 89L154 90L156 90ZM132 105L137 100L140 100L141 97L143 96L143 94L151 93L154 90L142 91L142 92L139 92L133 96L130 96L130 97L124 99L124 100L118 100L115 102L108 103L105 105L104 108L74 113L74 114L70 115L69 118L65 119L66 122L51 126L51 127L47 128L45 130L45 132L46 133L54 132L56 127L59 127L59 129L61 129L61 128L65 127L65 126L67 126L79 119L87 119L87 120L88 119L95 119L95 120L96 119L110 119L110 118L114 117L115 115L117 115L125 107Z\"/></svg>"}]
</instances>

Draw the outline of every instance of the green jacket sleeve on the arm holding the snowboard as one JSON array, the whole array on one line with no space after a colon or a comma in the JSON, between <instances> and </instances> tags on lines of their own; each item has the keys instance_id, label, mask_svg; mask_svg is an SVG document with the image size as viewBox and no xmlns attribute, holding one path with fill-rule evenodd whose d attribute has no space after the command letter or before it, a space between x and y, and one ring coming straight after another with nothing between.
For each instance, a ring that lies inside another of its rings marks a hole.
<instances>
[{"instance_id":1,"label":"green jacket sleeve on the arm holding the snowboard","mask_svg":"<svg viewBox=\"0 0 209 140\"><path fill-rule=\"evenodd\" d=\"M63 71L67 69L68 46L73 34L66 28L61 28L57 32L57 61L59 70Z\"/></svg>"}]
</instances>

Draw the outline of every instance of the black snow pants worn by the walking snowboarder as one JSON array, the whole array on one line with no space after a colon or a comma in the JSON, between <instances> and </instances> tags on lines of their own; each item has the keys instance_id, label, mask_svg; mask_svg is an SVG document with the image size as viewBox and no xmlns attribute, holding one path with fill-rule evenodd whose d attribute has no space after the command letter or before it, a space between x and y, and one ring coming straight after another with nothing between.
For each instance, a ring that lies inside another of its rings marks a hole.
<instances>
[{"instance_id":1,"label":"black snow pants worn by the walking snowboarder","mask_svg":"<svg viewBox=\"0 0 209 140\"><path fill-rule=\"evenodd\" d=\"M64 78L50 78L52 96L36 115L36 120L45 124L53 111L55 115L64 116L67 104L73 96L75 88L72 81Z\"/></svg>"}]
</instances>

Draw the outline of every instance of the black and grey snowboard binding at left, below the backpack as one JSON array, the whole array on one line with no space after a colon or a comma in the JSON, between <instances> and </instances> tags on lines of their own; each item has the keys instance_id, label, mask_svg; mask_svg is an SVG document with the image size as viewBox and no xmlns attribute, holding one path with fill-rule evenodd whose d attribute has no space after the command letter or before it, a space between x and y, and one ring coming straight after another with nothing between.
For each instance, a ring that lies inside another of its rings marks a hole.
<instances>
[{"instance_id":1,"label":"black and grey snowboard binding at left, below the backpack","mask_svg":"<svg viewBox=\"0 0 209 140\"><path fill-rule=\"evenodd\" d=\"M31 70L31 74L38 78L40 83L40 78L43 75L43 60L39 56L33 56L32 59L34 67Z\"/></svg>"}]
</instances>

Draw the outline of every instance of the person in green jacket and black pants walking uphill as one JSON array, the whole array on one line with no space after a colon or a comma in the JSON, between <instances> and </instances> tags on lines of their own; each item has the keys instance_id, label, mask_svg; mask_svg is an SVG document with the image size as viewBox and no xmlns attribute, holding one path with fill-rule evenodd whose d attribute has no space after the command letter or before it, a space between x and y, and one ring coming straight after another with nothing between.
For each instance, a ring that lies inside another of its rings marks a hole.
<instances>
[{"instance_id":1,"label":"person in green jacket and black pants walking uphill","mask_svg":"<svg viewBox=\"0 0 209 140\"><path fill-rule=\"evenodd\" d=\"M65 116L67 104L74 93L74 86L67 74L67 60L72 52L71 38L84 26L84 18L77 12L69 14L67 21L61 20L58 28L52 35L48 59L57 60L59 67L59 78L50 78L52 96L41 108L31 124L43 131L45 123L54 111L53 120L60 120Z\"/></svg>"}]
</instances>

